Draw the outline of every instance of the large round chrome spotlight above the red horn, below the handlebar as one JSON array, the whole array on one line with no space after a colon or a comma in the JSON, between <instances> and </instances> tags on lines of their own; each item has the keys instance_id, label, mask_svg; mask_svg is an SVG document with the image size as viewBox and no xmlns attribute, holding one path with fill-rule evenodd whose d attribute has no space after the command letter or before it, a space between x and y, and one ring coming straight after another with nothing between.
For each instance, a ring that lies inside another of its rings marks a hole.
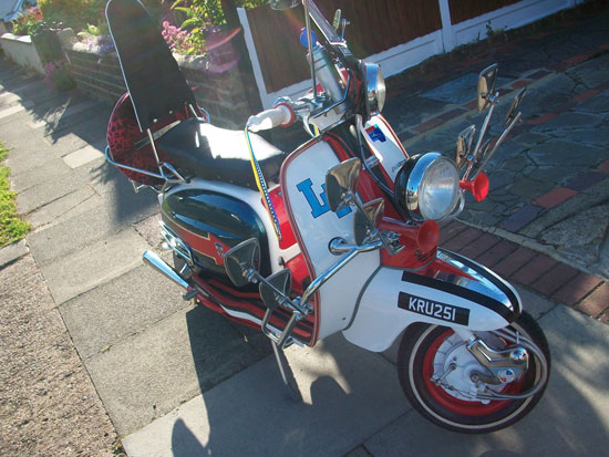
<instances>
[{"instance_id":1,"label":"large round chrome spotlight above the red horn, below the handlebar","mask_svg":"<svg viewBox=\"0 0 609 457\"><path fill-rule=\"evenodd\" d=\"M417 221L444 219L455 209L458 195L455 164L440 153L409 158L395 177L396 204Z\"/></svg>"}]
</instances>

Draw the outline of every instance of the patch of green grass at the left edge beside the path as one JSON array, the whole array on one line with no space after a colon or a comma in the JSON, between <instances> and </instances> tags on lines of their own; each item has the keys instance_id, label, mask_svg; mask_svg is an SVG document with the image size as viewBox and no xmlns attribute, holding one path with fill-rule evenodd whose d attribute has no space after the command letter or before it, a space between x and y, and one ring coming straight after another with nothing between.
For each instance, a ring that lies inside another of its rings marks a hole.
<instances>
[{"instance_id":1,"label":"patch of green grass at the left edge beside the path","mask_svg":"<svg viewBox=\"0 0 609 457\"><path fill-rule=\"evenodd\" d=\"M0 143L0 248L20 240L30 230L30 225L17 216L16 193L10 190L10 169L2 165L9 149Z\"/></svg>"}]
</instances>

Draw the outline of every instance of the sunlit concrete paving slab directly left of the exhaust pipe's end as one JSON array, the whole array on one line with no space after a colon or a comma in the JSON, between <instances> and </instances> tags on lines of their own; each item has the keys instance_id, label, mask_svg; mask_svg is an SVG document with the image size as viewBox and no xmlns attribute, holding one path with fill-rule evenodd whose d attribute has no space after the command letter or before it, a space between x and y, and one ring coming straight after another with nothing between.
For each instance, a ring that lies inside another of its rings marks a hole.
<instances>
[{"instance_id":1,"label":"sunlit concrete paving slab directly left of the exhaust pipe's end","mask_svg":"<svg viewBox=\"0 0 609 457\"><path fill-rule=\"evenodd\" d=\"M42 272L55 303L61 304L138 267L147 247L135 230L127 228L42 266Z\"/></svg>"}]
</instances>

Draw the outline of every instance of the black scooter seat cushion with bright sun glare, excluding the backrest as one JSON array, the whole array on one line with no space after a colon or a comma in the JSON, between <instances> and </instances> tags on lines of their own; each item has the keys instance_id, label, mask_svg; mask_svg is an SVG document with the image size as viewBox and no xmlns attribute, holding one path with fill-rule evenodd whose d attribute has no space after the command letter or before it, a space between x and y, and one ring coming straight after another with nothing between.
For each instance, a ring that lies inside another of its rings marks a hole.
<instances>
[{"instance_id":1,"label":"black scooter seat cushion with bright sun glare, excluding the backrest","mask_svg":"<svg viewBox=\"0 0 609 457\"><path fill-rule=\"evenodd\" d=\"M265 179L278 181L286 154L259 135L250 133L249 138ZM242 131L219 128L190 117L157 138L156 145L182 170L256 189Z\"/></svg>"}]
</instances>

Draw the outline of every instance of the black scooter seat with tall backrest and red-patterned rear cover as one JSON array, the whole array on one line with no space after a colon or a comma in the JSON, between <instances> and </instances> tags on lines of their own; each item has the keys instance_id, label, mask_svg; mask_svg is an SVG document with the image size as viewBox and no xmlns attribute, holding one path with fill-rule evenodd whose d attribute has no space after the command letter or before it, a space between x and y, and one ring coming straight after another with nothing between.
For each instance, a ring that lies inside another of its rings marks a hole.
<instances>
[{"instance_id":1,"label":"black scooter seat with tall backrest and red-patterned rear cover","mask_svg":"<svg viewBox=\"0 0 609 457\"><path fill-rule=\"evenodd\" d=\"M245 133L218 128L192 116L199 111L193 92L158 24L144 6L138 0L110 0L106 17L128 91L128 96L124 96L115 108L117 115L113 113L115 122L111 120L109 126L109 144L117 159L115 165L121 167L122 162L122 165L152 172L155 164L161 167L166 163L180 173L204 179L256 188ZM123 106L130 102L133 110ZM183 121L153 138L159 134L153 131L175 120ZM135 122L140 131L148 135L149 147L138 148L133 141L125 141L125 136L138 138ZM128 135L125 125L130 127ZM265 179L277 181L286 155L258 135L250 134L250 139ZM159 184L159 179L136 170L121 170L138 183Z\"/></svg>"}]
</instances>

